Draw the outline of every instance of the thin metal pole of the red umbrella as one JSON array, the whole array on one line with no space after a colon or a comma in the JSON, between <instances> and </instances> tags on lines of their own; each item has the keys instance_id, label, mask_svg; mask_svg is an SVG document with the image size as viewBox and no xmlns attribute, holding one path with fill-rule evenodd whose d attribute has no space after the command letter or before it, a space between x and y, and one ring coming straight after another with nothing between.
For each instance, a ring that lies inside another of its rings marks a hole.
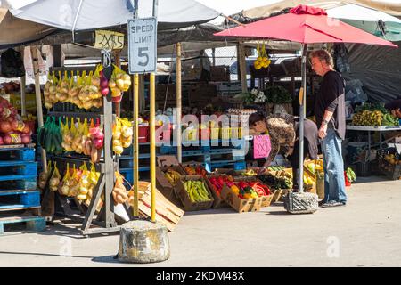
<instances>
[{"instance_id":1,"label":"thin metal pole of the red umbrella","mask_svg":"<svg viewBox=\"0 0 401 285\"><path fill-rule=\"evenodd\" d=\"M302 87L299 90L299 192L304 191L304 120L307 97L307 44L302 45Z\"/></svg>"}]
</instances>

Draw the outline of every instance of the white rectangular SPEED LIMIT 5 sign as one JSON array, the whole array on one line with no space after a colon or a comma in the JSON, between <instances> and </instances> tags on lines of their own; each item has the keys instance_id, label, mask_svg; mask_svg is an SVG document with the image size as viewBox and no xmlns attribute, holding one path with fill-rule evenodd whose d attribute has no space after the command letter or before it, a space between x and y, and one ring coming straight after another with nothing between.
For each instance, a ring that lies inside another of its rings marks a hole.
<instances>
[{"instance_id":1,"label":"white rectangular SPEED LIMIT 5 sign","mask_svg":"<svg viewBox=\"0 0 401 285\"><path fill-rule=\"evenodd\" d=\"M157 29L156 18L128 20L130 74L156 72Z\"/></svg>"}]
</instances>

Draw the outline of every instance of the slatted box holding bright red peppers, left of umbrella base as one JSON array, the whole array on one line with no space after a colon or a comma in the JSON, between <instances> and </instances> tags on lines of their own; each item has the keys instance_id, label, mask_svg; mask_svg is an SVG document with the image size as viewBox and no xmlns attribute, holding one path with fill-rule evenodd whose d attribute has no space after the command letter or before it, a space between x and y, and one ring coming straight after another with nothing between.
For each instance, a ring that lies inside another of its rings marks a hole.
<instances>
[{"instance_id":1,"label":"slatted box holding bright red peppers, left of umbrella base","mask_svg":"<svg viewBox=\"0 0 401 285\"><path fill-rule=\"evenodd\" d=\"M238 213L257 212L262 207L262 198L240 199L227 185L221 191L221 197Z\"/></svg>"}]
</instances>

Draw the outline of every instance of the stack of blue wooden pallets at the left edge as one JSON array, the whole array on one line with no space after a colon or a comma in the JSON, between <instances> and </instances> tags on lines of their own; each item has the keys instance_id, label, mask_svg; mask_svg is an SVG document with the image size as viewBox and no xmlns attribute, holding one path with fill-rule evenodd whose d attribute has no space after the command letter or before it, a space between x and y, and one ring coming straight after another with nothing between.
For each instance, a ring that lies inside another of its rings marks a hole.
<instances>
[{"instance_id":1,"label":"stack of blue wooden pallets at the left edge","mask_svg":"<svg viewBox=\"0 0 401 285\"><path fill-rule=\"evenodd\" d=\"M22 213L21 213L22 212ZM35 145L0 147L0 235L5 224L26 225L26 230L45 230L37 191Z\"/></svg>"}]
</instances>

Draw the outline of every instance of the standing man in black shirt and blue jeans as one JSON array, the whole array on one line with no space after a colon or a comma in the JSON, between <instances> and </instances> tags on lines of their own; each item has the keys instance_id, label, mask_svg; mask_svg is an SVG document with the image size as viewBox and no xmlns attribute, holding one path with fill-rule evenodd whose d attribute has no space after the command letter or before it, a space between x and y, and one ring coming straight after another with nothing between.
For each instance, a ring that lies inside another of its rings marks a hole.
<instances>
[{"instance_id":1,"label":"standing man in black shirt and blue jeans","mask_svg":"<svg viewBox=\"0 0 401 285\"><path fill-rule=\"evenodd\" d=\"M343 206L347 203L344 162L341 142L345 138L344 79L333 69L331 54L319 50L310 55L312 69L323 77L315 99L315 118L322 139L324 168L324 199L322 207Z\"/></svg>"}]
</instances>

